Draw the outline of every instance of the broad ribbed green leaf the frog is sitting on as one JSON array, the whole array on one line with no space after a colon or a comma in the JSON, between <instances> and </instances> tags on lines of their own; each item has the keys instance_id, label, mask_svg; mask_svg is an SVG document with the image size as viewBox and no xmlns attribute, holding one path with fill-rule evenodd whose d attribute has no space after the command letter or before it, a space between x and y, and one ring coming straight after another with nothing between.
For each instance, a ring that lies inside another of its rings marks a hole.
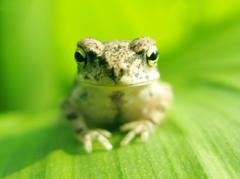
<instances>
[{"instance_id":1,"label":"broad ribbed green leaf the frog is sitting on","mask_svg":"<svg viewBox=\"0 0 240 179\"><path fill-rule=\"evenodd\" d=\"M0 178L239 178L240 25L198 28L162 54L174 88L168 119L147 143L86 154L57 113L0 116Z\"/></svg>"}]
</instances>

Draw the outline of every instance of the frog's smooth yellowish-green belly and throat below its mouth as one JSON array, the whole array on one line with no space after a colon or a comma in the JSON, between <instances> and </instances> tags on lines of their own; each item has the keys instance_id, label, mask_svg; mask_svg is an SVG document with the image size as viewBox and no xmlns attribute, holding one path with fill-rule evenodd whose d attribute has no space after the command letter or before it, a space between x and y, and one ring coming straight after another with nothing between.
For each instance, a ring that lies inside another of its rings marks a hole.
<instances>
[{"instance_id":1,"label":"frog's smooth yellowish-green belly and throat below its mouth","mask_svg":"<svg viewBox=\"0 0 240 179\"><path fill-rule=\"evenodd\" d=\"M147 86L81 85L75 93L75 104L89 126L118 125L141 116L145 101L141 98L140 92Z\"/></svg>"}]
</instances>

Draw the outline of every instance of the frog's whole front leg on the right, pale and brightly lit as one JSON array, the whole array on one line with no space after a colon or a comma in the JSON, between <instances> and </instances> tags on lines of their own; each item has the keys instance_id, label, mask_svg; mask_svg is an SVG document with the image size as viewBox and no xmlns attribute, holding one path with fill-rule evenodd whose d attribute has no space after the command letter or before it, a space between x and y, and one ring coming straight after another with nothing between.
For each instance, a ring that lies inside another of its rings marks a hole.
<instances>
[{"instance_id":1,"label":"frog's whole front leg on the right, pale and brightly lit","mask_svg":"<svg viewBox=\"0 0 240 179\"><path fill-rule=\"evenodd\" d=\"M129 131L121 145L129 144L137 135L146 141L155 127L163 120L172 100L171 87L166 83L157 82L140 94L146 105L140 112L141 117L133 122L123 124L122 131Z\"/></svg>"}]
</instances>

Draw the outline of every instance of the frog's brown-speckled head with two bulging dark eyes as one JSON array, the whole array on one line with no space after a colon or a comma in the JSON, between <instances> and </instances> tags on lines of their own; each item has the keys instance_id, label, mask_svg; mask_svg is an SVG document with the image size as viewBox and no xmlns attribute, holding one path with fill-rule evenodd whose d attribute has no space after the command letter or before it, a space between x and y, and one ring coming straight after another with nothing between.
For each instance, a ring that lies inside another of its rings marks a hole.
<instances>
[{"instance_id":1,"label":"frog's brown-speckled head with two bulging dark eyes","mask_svg":"<svg viewBox=\"0 0 240 179\"><path fill-rule=\"evenodd\" d=\"M77 43L78 79L95 85L136 85L159 78L158 51L148 37L133 41Z\"/></svg>"}]
</instances>

